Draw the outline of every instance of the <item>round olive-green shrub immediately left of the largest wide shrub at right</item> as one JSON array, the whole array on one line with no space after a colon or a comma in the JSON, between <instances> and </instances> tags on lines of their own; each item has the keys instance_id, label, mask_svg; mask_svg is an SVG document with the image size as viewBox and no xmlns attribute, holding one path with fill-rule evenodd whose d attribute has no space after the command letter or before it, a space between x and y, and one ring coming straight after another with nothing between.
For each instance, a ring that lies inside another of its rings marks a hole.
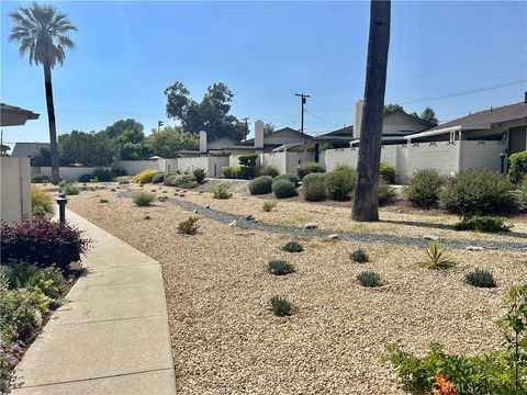
<instances>
[{"instance_id":1,"label":"round olive-green shrub immediately left of the largest wide shrub at right","mask_svg":"<svg viewBox=\"0 0 527 395\"><path fill-rule=\"evenodd\" d=\"M436 169L423 169L413 174L404 187L406 199L418 207L437 202L445 178Z\"/></svg>"}]
</instances>

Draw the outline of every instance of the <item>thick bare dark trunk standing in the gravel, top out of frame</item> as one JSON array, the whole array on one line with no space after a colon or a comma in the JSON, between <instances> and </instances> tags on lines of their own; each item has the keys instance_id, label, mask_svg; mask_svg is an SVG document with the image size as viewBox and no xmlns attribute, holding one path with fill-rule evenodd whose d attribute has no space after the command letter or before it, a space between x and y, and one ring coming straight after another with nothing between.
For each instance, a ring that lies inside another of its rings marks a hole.
<instances>
[{"instance_id":1,"label":"thick bare dark trunk standing in the gravel, top out of frame","mask_svg":"<svg viewBox=\"0 0 527 395\"><path fill-rule=\"evenodd\" d=\"M379 166L382 113L390 46L390 0L370 4L370 36L366 66L365 105L360 128L359 160L355 182L354 221L379 221Z\"/></svg>"}]
</instances>

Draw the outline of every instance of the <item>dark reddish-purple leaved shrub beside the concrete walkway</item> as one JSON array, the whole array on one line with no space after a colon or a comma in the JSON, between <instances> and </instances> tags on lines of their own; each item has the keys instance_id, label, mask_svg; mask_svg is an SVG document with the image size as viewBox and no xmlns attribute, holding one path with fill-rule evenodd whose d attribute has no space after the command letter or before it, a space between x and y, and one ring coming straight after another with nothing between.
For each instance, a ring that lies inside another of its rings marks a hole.
<instances>
[{"instance_id":1,"label":"dark reddish-purple leaved shrub beside the concrete walkway","mask_svg":"<svg viewBox=\"0 0 527 395\"><path fill-rule=\"evenodd\" d=\"M76 227L42 218L33 222L1 225L1 261L25 261L45 268L55 264L67 270L80 261L90 240L81 237Z\"/></svg>"}]
</instances>

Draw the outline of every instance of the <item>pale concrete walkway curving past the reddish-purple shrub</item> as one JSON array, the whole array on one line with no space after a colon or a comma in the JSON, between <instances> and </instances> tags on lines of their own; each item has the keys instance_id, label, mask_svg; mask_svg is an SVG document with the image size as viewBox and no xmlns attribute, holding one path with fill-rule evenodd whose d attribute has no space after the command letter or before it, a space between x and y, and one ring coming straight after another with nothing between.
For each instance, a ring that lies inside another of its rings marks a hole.
<instances>
[{"instance_id":1,"label":"pale concrete walkway curving past the reddish-purple shrub","mask_svg":"<svg viewBox=\"0 0 527 395\"><path fill-rule=\"evenodd\" d=\"M13 394L176 394L161 268L68 211L87 269L16 368Z\"/></svg>"}]
</instances>

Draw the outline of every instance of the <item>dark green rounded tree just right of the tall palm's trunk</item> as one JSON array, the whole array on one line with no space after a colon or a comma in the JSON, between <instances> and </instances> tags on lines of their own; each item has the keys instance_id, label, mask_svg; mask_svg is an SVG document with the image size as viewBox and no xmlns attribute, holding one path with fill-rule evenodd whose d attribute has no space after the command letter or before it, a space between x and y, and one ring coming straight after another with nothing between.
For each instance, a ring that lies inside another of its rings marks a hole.
<instances>
[{"instance_id":1,"label":"dark green rounded tree just right of the tall palm's trunk","mask_svg":"<svg viewBox=\"0 0 527 395\"><path fill-rule=\"evenodd\" d=\"M72 131L58 137L60 158L70 165L109 166L113 160L112 142L103 133Z\"/></svg>"}]
</instances>

